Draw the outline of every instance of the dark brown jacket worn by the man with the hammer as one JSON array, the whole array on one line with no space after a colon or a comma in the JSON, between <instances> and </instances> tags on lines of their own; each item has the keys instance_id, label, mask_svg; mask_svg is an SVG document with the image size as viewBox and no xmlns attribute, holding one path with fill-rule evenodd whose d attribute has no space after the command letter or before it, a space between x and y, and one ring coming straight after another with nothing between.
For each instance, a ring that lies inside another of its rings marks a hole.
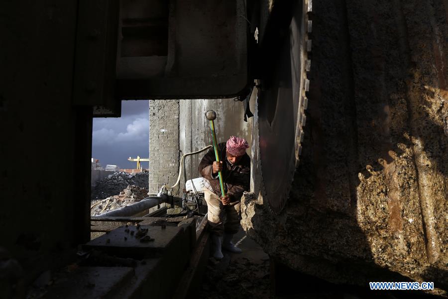
<instances>
[{"instance_id":1,"label":"dark brown jacket worn by the man with the hammer","mask_svg":"<svg viewBox=\"0 0 448 299\"><path fill-rule=\"evenodd\" d=\"M225 194L229 195L230 201L241 199L243 191L249 191L250 182L250 157L247 153L235 164L227 161L225 143L218 145L220 161L223 161L223 182ZM213 162L216 161L215 149L211 148L199 163L199 172L210 181L214 193L221 196L220 179L218 175L212 176Z\"/></svg>"}]
</instances>

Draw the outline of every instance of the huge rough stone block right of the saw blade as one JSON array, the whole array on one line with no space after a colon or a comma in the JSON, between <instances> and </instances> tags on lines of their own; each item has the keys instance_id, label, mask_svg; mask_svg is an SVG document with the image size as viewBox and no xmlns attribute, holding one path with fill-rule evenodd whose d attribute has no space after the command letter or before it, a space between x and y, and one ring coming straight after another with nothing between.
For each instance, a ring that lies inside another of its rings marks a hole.
<instances>
[{"instance_id":1,"label":"huge rough stone block right of the saw blade","mask_svg":"<svg viewBox=\"0 0 448 299\"><path fill-rule=\"evenodd\" d=\"M447 290L448 3L313 4L290 198L278 216L266 209L253 149L243 227L278 261L333 282L413 279Z\"/></svg>"}]
</instances>

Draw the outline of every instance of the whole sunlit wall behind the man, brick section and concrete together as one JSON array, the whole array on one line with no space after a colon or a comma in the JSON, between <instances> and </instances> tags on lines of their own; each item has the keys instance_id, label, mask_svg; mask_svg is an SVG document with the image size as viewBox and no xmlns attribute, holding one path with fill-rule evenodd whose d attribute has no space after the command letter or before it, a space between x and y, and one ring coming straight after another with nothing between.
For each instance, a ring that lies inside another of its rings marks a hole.
<instances>
[{"instance_id":1,"label":"whole sunlit wall behind the man, brick section and concrete together","mask_svg":"<svg viewBox=\"0 0 448 299\"><path fill-rule=\"evenodd\" d=\"M253 111L255 100L251 99ZM150 100L149 101L149 192L173 185L183 154L212 145L210 124L205 112L215 110L217 141L234 135L251 142L251 119L244 122L244 107L232 99ZM247 151L250 155L250 150ZM185 158L185 171L175 193L182 193L186 179L199 177L200 153Z\"/></svg>"}]
</instances>

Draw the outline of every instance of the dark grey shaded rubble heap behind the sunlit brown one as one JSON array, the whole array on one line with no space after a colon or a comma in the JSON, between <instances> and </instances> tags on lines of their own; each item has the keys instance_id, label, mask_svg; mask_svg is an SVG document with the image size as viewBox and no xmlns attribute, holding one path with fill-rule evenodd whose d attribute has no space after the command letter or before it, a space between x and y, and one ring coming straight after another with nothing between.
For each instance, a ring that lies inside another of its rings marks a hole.
<instances>
[{"instance_id":1,"label":"dark grey shaded rubble heap behind the sunlit brown one","mask_svg":"<svg viewBox=\"0 0 448 299\"><path fill-rule=\"evenodd\" d=\"M114 172L108 177L103 178L97 182L95 187L92 187L91 199L104 199L113 195L117 195L121 190L128 185L135 185L140 188L148 187L148 173L126 173Z\"/></svg>"}]
</instances>

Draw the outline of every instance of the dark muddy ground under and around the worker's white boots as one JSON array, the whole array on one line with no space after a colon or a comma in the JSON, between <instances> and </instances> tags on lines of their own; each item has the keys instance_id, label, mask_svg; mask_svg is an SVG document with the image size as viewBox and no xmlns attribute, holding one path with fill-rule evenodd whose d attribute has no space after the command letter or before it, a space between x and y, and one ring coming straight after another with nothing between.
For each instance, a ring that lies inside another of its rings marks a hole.
<instances>
[{"instance_id":1,"label":"dark muddy ground under and around the worker's white boots","mask_svg":"<svg viewBox=\"0 0 448 299\"><path fill-rule=\"evenodd\" d=\"M370 291L367 286L332 284L319 278L271 265L269 256L241 230L233 243L240 254L224 251L224 259L209 258L198 299L436 299L417 291ZM282 276L273 276L273 272ZM280 269L281 268L281 269ZM274 284L276 288L274 288Z\"/></svg>"}]
</instances>

